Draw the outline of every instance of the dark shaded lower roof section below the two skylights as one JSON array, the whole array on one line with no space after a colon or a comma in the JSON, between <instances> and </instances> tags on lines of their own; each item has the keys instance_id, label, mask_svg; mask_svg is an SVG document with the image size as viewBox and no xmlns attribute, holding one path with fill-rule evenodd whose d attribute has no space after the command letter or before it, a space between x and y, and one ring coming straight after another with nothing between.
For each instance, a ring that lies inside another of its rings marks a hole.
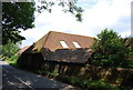
<instances>
[{"instance_id":1,"label":"dark shaded lower roof section below the two skylights","mask_svg":"<svg viewBox=\"0 0 133 90\"><path fill-rule=\"evenodd\" d=\"M45 51L44 51L45 52ZM42 52L44 60L58 62L86 63L93 51L89 48L58 49L54 52Z\"/></svg>"}]
</instances>

